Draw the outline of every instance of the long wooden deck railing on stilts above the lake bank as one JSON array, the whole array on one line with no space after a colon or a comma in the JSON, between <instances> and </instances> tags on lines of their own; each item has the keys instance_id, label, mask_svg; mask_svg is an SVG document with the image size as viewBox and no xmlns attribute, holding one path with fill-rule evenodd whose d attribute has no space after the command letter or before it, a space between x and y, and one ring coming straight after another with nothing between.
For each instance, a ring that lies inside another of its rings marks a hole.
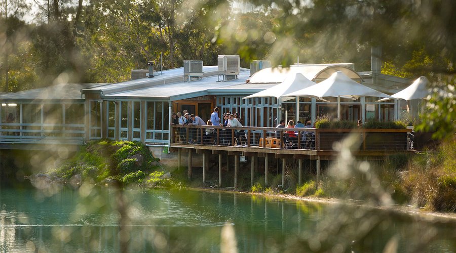
<instances>
[{"instance_id":1,"label":"long wooden deck railing on stilts above the lake bank","mask_svg":"<svg viewBox=\"0 0 456 253\"><path fill-rule=\"evenodd\" d=\"M296 137L289 137L287 131L294 132ZM332 151L335 142L355 135L360 138L360 151L407 151L413 149L410 133L409 129L288 129L250 126L227 128L212 125L173 125L171 144Z\"/></svg>"}]
</instances>

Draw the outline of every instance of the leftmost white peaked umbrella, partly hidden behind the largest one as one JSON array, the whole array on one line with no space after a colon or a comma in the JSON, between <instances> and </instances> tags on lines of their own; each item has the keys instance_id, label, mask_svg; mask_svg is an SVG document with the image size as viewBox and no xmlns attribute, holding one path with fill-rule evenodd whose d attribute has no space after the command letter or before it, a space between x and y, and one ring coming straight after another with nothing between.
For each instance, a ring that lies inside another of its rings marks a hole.
<instances>
[{"instance_id":1,"label":"leftmost white peaked umbrella, partly hidden behind the largest one","mask_svg":"<svg viewBox=\"0 0 456 253\"><path fill-rule=\"evenodd\" d=\"M301 73L295 73L295 74L292 74L292 75L288 76L287 78L285 78L285 80L283 82L279 83L276 86L273 86L264 91L254 93L254 94L244 97L242 99L276 97L276 98L281 98L282 101L287 101L287 100L292 99L292 97L284 97L283 94L295 92L297 90L311 87L313 85L315 85L315 82L307 79Z\"/></svg>"}]
</instances>

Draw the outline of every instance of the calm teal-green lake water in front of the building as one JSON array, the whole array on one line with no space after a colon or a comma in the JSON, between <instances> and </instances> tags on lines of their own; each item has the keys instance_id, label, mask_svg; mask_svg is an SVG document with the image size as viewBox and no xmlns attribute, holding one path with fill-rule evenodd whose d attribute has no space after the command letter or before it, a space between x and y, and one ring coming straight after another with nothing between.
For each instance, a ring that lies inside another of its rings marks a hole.
<instances>
[{"instance_id":1,"label":"calm teal-green lake water in front of the building","mask_svg":"<svg viewBox=\"0 0 456 253\"><path fill-rule=\"evenodd\" d=\"M2 252L456 249L454 221L231 192L4 187L0 204Z\"/></svg>"}]
</instances>

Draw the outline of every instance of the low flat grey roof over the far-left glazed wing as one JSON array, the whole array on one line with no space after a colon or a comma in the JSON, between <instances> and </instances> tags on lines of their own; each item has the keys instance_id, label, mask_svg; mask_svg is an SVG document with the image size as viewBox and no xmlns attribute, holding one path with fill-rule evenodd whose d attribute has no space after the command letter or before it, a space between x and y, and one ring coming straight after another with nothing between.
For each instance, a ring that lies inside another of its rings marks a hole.
<instances>
[{"instance_id":1,"label":"low flat grey roof over the far-left glazed wing","mask_svg":"<svg viewBox=\"0 0 456 253\"><path fill-rule=\"evenodd\" d=\"M46 88L32 89L16 93L0 94L2 101L19 101L19 100L67 100L81 99L81 90L97 87L104 83L65 83L54 85Z\"/></svg>"}]
</instances>

